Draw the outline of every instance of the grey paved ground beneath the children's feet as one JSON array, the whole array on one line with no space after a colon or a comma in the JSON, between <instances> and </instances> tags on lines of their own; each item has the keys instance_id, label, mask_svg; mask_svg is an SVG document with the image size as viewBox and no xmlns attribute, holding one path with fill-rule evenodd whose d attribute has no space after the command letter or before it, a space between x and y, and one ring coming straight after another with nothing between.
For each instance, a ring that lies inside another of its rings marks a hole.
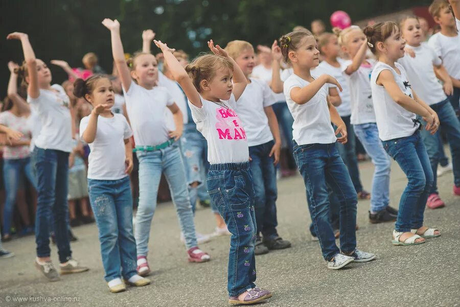
<instances>
[{"instance_id":1,"label":"grey paved ground beneath the children's feet","mask_svg":"<svg viewBox=\"0 0 460 307\"><path fill-rule=\"evenodd\" d=\"M360 164L364 186L370 190L373 166ZM397 207L406 179L399 167L392 169L391 199ZM369 201L358 207L358 247L378 255L376 261L328 270L319 245L307 231L310 217L300 176L279 181L279 232L292 248L257 257L258 285L273 297L260 304L272 306L458 306L460 305L460 198L451 195L452 175L440 178L441 196L447 206L427 210L426 224L441 228L442 237L415 247L390 243L393 224L371 225ZM209 209L196 214L199 231L214 229ZM13 240L5 247L16 257L0 261L0 306L226 306L228 238L202 245L212 256L206 264L189 264L179 242L178 223L170 203L155 213L150 236L149 262L152 284L110 294L103 279L96 226L75 229L80 239L72 245L74 256L91 270L47 282L33 266L34 238ZM52 258L57 261L56 248ZM67 297L75 302L62 302ZM35 300L17 302L18 298ZM10 299L9 302L6 299ZM16 300L14 302L13 300ZM40 301L37 301L40 300ZM51 300L48 302L46 300ZM60 301L60 302L59 302Z\"/></svg>"}]
</instances>

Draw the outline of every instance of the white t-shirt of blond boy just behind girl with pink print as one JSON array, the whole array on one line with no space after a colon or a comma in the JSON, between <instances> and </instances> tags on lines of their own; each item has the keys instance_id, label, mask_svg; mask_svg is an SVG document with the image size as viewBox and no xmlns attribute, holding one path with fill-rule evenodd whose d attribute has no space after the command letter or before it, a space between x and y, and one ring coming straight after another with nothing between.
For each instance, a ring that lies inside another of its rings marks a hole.
<instances>
[{"instance_id":1,"label":"white t-shirt of blond boy just behind girl with pink print","mask_svg":"<svg viewBox=\"0 0 460 307\"><path fill-rule=\"evenodd\" d=\"M237 101L236 109L243 122L249 147L265 144L273 139L264 108L277 102L265 81L255 78L250 80L251 83Z\"/></svg>"}]
</instances>

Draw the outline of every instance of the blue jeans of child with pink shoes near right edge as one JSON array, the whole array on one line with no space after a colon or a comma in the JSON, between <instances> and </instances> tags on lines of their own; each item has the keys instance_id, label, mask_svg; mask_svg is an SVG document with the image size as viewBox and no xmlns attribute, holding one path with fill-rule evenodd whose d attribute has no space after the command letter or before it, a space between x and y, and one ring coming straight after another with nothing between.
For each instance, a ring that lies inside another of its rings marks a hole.
<instances>
[{"instance_id":1,"label":"blue jeans of child with pink shoes near right edge","mask_svg":"<svg viewBox=\"0 0 460 307\"><path fill-rule=\"evenodd\" d=\"M454 175L454 183L460 186L460 122L458 122L452 105L446 99L440 103L430 106L436 113L438 113L439 121L443 131L447 134L447 140L450 145L450 152L452 154L452 169ZM423 122L426 125L426 122ZM433 172L433 185L431 186L430 194L438 194L437 176L434 176L438 171L438 163L440 159L439 143L438 140L439 130L435 134L430 134L429 131L423 129L421 131L423 143L425 143L428 156L430 158L431 170Z\"/></svg>"}]
</instances>

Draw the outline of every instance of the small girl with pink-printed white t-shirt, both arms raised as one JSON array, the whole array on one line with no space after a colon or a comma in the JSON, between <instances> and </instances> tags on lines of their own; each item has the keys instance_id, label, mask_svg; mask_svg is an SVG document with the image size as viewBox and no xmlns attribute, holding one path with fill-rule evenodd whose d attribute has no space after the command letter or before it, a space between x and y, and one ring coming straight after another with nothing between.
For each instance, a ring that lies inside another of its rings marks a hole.
<instances>
[{"instance_id":1,"label":"small girl with pink-printed white t-shirt, both arms raised","mask_svg":"<svg viewBox=\"0 0 460 307\"><path fill-rule=\"evenodd\" d=\"M252 304L271 297L256 281L256 217L254 188L249 168L246 133L235 112L236 101L246 87L243 72L220 48L196 58L184 69L166 44L154 41L163 51L174 79L189 98L197 129L208 140L208 189L212 202L232 232L228 260L229 303ZM233 76L233 83L232 83Z\"/></svg>"}]
</instances>

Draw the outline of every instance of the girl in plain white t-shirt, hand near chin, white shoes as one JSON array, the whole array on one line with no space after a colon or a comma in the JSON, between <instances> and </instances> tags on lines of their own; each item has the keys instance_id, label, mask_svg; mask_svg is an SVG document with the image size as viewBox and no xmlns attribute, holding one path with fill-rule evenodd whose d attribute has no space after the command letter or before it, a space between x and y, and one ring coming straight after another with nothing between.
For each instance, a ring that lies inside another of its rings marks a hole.
<instances>
[{"instance_id":1,"label":"girl in plain white t-shirt, hand near chin, white shoes","mask_svg":"<svg viewBox=\"0 0 460 307\"><path fill-rule=\"evenodd\" d=\"M99 229L102 263L110 292L125 291L127 284L145 286L150 280L136 273L136 243L132 231L131 128L125 116L114 114L113 87L103 75L75 81L74 94L93 105L80 122L80 137L89 144L88 187ZM107 157L110 156L110 159ZM121 272L121 273L120 273Z\"/></svg>"}]
</instances>

